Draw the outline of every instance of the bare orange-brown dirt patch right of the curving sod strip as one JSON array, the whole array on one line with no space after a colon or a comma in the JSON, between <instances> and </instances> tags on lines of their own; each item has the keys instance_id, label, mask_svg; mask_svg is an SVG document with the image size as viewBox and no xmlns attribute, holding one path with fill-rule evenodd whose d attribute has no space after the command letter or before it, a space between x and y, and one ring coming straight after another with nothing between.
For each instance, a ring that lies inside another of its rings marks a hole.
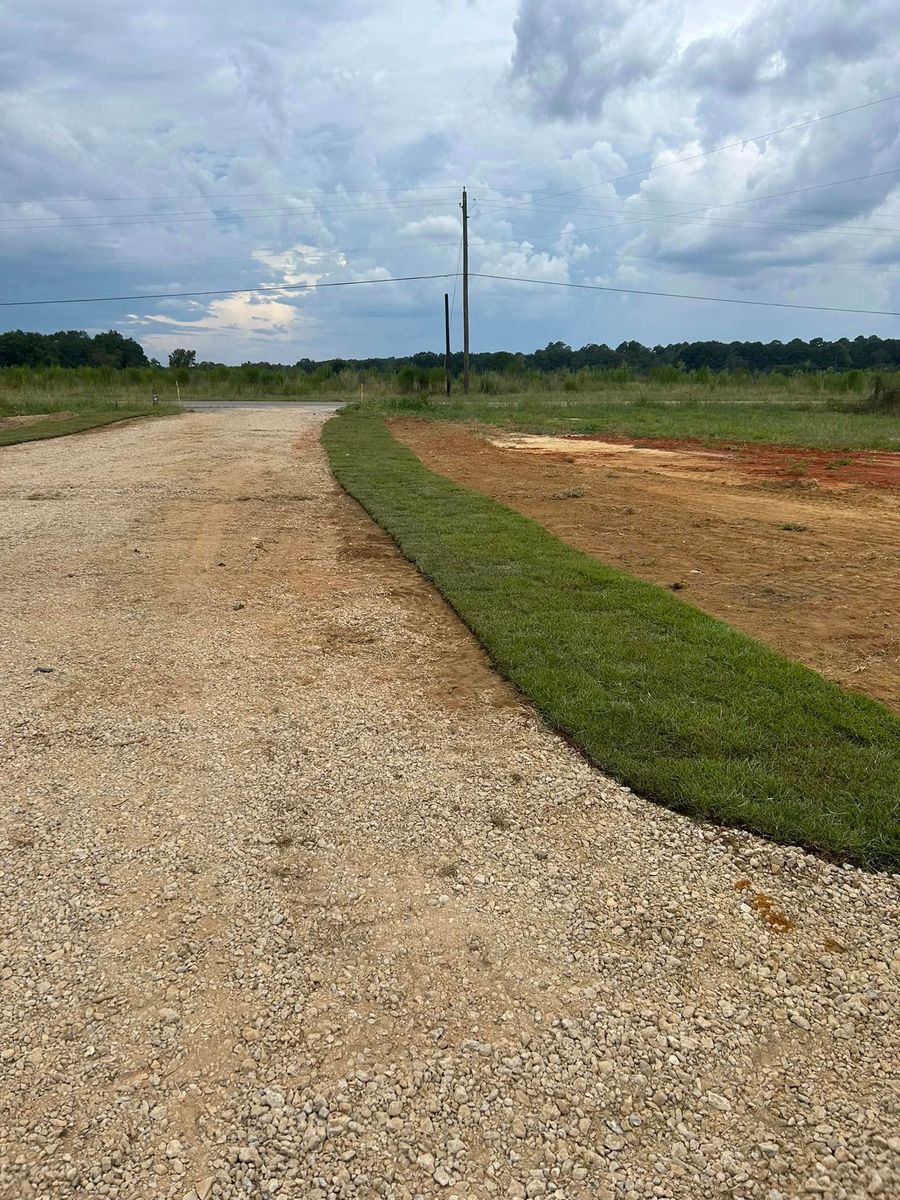
<instances>
[{"instance_id":1,"label":"bare orange-brown dirt patch right of the curving sod strip","mask_svg":"<svg viewBox=\"0 0 900 1200\"><path fill-rule=\"evenodd\" d=\"M900 712L900 454L392 428L432 469Z\"/></svg>"}]
</instances>

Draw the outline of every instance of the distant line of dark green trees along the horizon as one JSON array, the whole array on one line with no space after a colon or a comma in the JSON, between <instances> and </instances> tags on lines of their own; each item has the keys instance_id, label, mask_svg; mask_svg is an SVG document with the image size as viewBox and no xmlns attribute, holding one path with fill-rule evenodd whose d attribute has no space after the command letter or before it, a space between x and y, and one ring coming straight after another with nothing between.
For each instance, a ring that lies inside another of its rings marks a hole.
<instances>
[{"instance_id":1,"label":"distant line of dark green trees along the horizon","mask_svg":"<svg viewBox=\"0 0 900 1200\"><path fill-rule=\"evenodd\" d=\"M450 356L454 374L462 372L462 354ZM685 371L706 368L709 371L851 371L851 370L899 370L900 338L893 337L841 337L827 342L814 337L804 342L799 337L790 342L673 342L670 346L643 346L641 342L622 342L617 347L589 343L572 349L565 342L550 342L544 349L530 354L511 350L493 350L473 354L472 368L476 372L539 371L554 373L581 371L583 368L625 367L643 373L654 367L677 367ZM176 370L211 370L222 367L216 362L197 362L197 352L175 349L169 354L169 367ZM366 371L394 373L404 367L421 370L439 368L443 354L420 350L396 358L368 359L299 359L294 364L245 362L245 367L268 370L295 370L305 374L337 374L341 371ZM143 347L133 337L124 337L114 329L104 334L86 334L84 330L60 330L56 334L34 334L20 329L0 334L0 367L143 367L160 366L148 359Z\"/></svg>"}]
</instances>

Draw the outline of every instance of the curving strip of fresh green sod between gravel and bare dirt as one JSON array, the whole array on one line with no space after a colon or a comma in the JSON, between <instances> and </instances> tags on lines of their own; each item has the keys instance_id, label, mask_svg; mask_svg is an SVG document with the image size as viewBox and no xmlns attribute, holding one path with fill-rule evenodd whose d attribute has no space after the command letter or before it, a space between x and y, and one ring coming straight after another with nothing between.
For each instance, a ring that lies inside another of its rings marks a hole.
<instances>
[{"instance_id":1,"label":"curving strip of fresh green sod between gravel and bare dirt","mask_svg":"<svg viewBox=\"0 0 900 1200\"><path fill-rule=\"evenodd\" d=\"M604 772L678 811L900 868L900 721L427 470L379 418L323 432L341 485L497 668Z\"/></svg>"}]
</instances>

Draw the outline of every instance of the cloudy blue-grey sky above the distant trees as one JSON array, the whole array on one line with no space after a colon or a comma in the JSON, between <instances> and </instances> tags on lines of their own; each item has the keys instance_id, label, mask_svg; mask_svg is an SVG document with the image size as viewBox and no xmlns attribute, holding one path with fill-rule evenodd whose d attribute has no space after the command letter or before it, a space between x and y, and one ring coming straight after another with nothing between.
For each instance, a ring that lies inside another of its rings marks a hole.
<instances>
[{"instance_id":1,"label":"cloudy blue-grey sky above the distant trees","mask_svg":"<svg viewBox=\"0 0 900 1200\"><path fill-rule=\"evenodd\" d=\"M473 272L626 289L473 277L473 350L900 336L628 292L900 310L900 98L869 103L900 91L896 16L0 0L0 300L139 298L0 329L115 328L163 361L409 354L443 349L449 292L457 348L458 280L390 281L458 271L466 186ZM388 282L292 290L361 281Z\"/></svg>"}]
</instances>

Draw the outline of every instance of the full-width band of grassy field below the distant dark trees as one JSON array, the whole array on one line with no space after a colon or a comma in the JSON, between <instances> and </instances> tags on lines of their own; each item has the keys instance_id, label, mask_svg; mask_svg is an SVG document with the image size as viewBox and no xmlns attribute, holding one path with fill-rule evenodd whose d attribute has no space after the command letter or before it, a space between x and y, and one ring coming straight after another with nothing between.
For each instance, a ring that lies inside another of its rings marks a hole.
<instances>
[{"instance_id":1,"label":"full-width band of grassy field below the distant dark trees","mask_svg":"<svg viewBox=\"0 0 900 1200\"><path fill-rule=\"evenodd\" d=\"M108 412L148 406L154 388L164 402L184 400L362 400L390 412L443 420L481 421L529 433L617 433L635 437L702 437L774 442L834 450L900 449L892 409L872 408L900 388L900 373L868 371L773 372L628 367L485 372L472 392L460 382L444 395L439 368L396 372L296 367L180 368L6 367L0 370L0 416L70 410Z\"/></svg>"}]
</instances>

